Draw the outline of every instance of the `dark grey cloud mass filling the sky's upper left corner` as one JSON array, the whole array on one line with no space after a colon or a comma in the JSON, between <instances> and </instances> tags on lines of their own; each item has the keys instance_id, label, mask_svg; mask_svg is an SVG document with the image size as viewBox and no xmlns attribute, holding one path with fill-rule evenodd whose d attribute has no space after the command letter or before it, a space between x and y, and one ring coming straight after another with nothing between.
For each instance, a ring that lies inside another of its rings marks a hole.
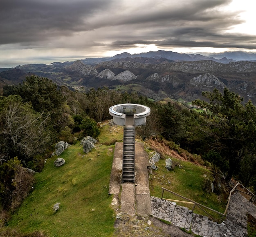
<instances>
[{"instance_id":1,"label":"dark grey cloud mass filling the sky's upper left corner","mask_svg":"<svg viewBox=\"0 0 256 237\"><path fill-rule=\"evenodd\" d=\"M88 31L86 20L105 0L1 0L0 44L33 42Z\"/></svg>"}]
</instances>

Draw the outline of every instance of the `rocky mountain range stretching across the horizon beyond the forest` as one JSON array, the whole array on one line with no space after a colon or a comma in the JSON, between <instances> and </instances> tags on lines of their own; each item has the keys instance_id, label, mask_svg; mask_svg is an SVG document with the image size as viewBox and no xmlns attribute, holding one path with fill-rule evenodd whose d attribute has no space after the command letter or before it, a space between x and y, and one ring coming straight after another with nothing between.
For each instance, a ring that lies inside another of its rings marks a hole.
<instances>
[{"instance_id":1,"label":"rocky mountain range stretching across the horizon beyond the forest","mask_svg":"<svg viewBox=\"0 0 256 237\"><path fill-rule=\"evenodd\" d=\"M191 101L202 98L202 91L212 91L214 88L223 91L227 87L243 96L245 101L250 99L256 104L256 54L230 53L207 57L150 51L133 55L121 53L111 58L53 62L49 65L27 64L0 69L0 89L22 82L27 75L36 74L72 90L86 92L91 88L108 86L120 91L137 91L154 100L171 97ZM248 55L250 60L236 61L229 55L236 59Z\"/></svg>"}]
</instances>

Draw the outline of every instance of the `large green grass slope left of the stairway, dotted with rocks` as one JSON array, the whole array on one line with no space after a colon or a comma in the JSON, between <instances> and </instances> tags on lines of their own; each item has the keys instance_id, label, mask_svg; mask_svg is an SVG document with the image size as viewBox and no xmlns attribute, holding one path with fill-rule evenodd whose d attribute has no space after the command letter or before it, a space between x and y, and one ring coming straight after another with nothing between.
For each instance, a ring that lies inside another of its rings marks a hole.
<instances>
[{"instance_id":1,"label":"large green grass slope left of the stairway, dotted with rocks","mask_svg":"<svg viewBox=\"0 0 256 237\"><path fill-rule=\"evenodd\" d=\"M98 145L85 154L77 143L59 156L66 161L63 166L54 166L56 156L48 159L8 227L42 230L49 237L111 236L115 218L108 186L114 148ZM60 209L54 213L57 202Z\"/></svg>"}]
</instances>

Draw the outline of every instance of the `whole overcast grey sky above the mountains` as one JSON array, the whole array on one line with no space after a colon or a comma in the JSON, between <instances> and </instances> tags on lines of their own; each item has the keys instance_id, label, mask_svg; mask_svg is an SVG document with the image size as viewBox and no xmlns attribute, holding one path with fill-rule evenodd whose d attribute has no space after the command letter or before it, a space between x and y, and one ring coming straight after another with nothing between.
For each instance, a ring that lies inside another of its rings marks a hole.
<instances>
[{"instance_id":1,"label":"whole overcast grey sky above the mountains","mask_svg":"<svg viewBox=\"0 0 256 237\"><path fill-rule=\"evenodd\" d=\"M0 0L0 67L125 51L255 52L255 7L254 0Z\"/></svg>"}]
</instances>

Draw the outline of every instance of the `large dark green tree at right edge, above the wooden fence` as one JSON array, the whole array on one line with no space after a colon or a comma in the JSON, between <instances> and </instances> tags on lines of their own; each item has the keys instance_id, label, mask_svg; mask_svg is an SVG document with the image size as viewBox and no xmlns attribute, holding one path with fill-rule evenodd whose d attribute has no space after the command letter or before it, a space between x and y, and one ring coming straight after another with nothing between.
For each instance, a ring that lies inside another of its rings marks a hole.
<instances>
[{"instance_id":1,"label":"large dark green tree at right edge, above the wooden fence","mask_svg":"<svg viewBox=\"0 0 256 237\"><path fill-rule=\"evenodd\" d=\"M245 160L251 163L256 155L256 108L251 101L244 105L243 98L228 89L223 95L217 89L202 94L208 102L195 100L193 104L206 109L200 116L204 152L213 150L228 162L227 180L242 175ZM222 162L217 165L225 172Z\"/></svg>"}]
</instances>

